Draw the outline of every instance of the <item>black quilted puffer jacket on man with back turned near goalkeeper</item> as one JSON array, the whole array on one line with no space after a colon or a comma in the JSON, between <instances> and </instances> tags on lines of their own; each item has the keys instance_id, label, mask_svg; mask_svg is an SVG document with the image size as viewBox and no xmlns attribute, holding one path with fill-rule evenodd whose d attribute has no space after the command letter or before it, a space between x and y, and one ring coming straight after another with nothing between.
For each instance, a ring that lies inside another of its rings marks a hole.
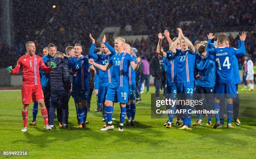
<instances>
[{"instance_id":1,"label":"black quilted puffer jacket on man with back turned near goalkeeper","mask_svg":"<svg viewBox=\"0 0 256 159\"><path fill-rule=\"evenodd\" d=\"M57 68L50 72L51 91L67 91L71 89L67 63L62 58L55 58L51 62L55 62L57 65Z\"/></svg>"}]
</instances>

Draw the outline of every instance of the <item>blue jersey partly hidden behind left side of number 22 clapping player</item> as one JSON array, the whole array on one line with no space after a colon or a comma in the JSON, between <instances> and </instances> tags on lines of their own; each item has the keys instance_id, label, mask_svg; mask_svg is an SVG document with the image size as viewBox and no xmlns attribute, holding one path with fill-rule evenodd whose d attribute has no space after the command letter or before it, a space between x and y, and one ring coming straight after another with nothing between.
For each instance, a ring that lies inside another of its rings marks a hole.
<instances>
[{"instance_id":1,"label":"blue jersey partly hidden behind left side of number 22 clapping player","mask_svg":"<svg viewBox=\"0 0 256 159\"><path fill-rule=\"evenodd\" d=\"M163 60L164 61L164 60ZM177 80L177 62L175 56L170 52L166 52L166 64L167 64L167 83L176 82Z\"/></svg>"}]
</instances>

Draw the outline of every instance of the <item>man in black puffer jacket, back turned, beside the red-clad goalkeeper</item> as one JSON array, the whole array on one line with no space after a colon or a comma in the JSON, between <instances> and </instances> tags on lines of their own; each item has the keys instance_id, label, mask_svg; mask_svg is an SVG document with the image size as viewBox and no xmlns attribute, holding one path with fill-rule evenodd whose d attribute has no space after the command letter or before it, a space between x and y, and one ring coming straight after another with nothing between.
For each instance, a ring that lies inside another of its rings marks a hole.
<instances>
[{"instance_id":1,"label":"man in black puffer jacket, back turned, beside the red-clad goalkeeper","mask_svg":"<svg viewBox=\"0 0 256 159\"><path fill-rule=\"evenodd\" d=\"M52 128L54 126L54 112L60 101L60 110L62 110L62 123L63 127L68 126L68 91L72 91L71 81L69 79L69 67L64 62L63 53L58 52L55 55L55 62L57 68L50 73L51 84L51 98L50 98L50 110L49 110L49 125Z\"/></svg>"}]
</instances>

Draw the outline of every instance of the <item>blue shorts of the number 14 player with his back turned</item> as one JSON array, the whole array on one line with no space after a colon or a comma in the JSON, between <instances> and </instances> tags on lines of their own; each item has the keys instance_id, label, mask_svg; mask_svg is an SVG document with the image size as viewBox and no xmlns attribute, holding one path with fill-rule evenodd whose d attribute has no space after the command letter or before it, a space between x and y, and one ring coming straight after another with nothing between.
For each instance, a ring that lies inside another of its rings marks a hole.
<instances>
[{"instance_id":1,"label":"blue shorts of the number 14 player with his back turned","mask_svg":"<svg viewBox=\"0 0 256 159\"><path fill-rule=\"evenodd\" d=\"M233 82L228 84L216 83L214 91L216 98L237 97L236 85Z\"/></svg>"}]
</instances>

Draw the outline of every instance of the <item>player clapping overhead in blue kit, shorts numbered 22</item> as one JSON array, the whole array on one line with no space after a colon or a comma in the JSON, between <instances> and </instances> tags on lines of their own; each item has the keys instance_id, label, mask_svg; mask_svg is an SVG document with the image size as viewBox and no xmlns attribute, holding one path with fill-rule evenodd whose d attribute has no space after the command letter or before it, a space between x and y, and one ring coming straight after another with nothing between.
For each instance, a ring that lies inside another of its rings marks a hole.
<instances>
[{"instance_id":1,"label":"player clapping overhead in blue kit, shorts numbered 22","mask_svg":"<svg viewBox=\"0 0 256 159\"><path fill-rule=\"evenodd\" d=\"M177 93L186 94L186 100L190 101L193 98L195 78L194 78L194 67L195 67L195 57L196 50L192 42L183 35L182 29L177 28L179 31L178 38L170 46L170 51L174 54L176 67L177 67ZM175 49L177 43L180 42L182 49ZM167 56L171 56L170 53L166 53ZM187 112L192 110L192 106L189 104L185 105L183 109ZM180 125L179 129L191 129L191 118L192 114L183 114L184 122Z\"/></svg>"}]
</instances>

